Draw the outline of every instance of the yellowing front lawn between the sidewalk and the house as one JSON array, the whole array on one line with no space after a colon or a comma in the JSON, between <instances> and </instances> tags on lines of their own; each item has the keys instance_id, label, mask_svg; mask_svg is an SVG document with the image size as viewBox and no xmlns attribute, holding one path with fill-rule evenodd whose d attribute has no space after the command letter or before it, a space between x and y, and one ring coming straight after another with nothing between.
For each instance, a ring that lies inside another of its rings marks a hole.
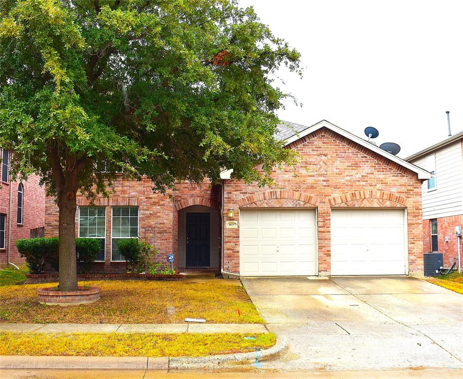
<instances>
[{"instance_id":1,"label":"yellowing front lawn between the sidewalk and the house","mask_svg":"<svg viewBox=\"0 0 463 379\"><path fill-rule=\"evenodd\" d=\"M37 288L57 283L0 288L0 322L79 324L168 324L185 317L208 323L264 321L241 285L215 279L207 282L101 280L82 282L101 287L101 300L62 307L38 303Z\"/></svg>"}]
</instances>

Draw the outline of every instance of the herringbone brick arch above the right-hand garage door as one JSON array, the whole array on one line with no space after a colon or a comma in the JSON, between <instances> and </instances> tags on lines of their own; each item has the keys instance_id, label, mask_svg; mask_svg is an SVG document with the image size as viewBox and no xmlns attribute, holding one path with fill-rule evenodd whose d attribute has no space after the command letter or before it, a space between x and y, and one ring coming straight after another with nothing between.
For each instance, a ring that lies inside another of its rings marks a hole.
<instances>
[{"instance_id":1,"label":"herringbone brick arch above the right-hand garage door","mask_svg":"<svg viewBox=\"0 0 463 379\"><path fill-rule=\"evenodd\" d=\"M404 208L408 205L408 199L396 193L381 190L364 190L344 193L328 199L332 208L363 207L363 208Z\"/></svg>"}]
</instances>

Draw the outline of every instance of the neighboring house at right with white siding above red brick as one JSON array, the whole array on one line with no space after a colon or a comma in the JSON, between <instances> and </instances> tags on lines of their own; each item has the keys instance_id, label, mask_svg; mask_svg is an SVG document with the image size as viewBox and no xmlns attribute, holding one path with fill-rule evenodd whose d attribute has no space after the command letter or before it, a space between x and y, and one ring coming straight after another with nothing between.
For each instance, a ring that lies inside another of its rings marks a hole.
<instances>
[{"instance_id":1,"label":"neighboring house at right with white siding above red brick","mask_svg":"<svg viewBox=\"0 0 463 379\"><path fill-rule=\"evenodd\" d=\"M406 158L432 174L422 186L423 251L443 253L445 267L458 257L455 227L463 227L462 144L460 132Z\"/></svg>"}]
</instances>

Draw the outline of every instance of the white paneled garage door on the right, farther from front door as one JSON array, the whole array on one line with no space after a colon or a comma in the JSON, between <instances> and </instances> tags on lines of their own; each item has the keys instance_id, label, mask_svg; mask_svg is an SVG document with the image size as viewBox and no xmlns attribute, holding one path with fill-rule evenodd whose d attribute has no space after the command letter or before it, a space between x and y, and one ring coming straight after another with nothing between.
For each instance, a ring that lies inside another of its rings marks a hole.
<instances>
[{"instance_id":1,"label":"white paneled garage door on the right, farther from front door","mask_svg":"<svg viewBox=\"0 0 463 379\"><path fill-rule=\"evenodd\" d=\"M332 209L332 275L406 273L403 209Z\"/></svg>"}]
</instances>

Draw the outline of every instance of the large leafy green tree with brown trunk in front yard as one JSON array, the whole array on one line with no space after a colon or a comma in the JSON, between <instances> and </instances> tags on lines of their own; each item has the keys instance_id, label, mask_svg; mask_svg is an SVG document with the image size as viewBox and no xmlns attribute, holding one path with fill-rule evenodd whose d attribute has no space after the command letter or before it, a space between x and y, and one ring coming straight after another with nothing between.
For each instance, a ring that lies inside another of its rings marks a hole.
<instances>
[{"instance_id":1,"label":"large leafy green tree with brown trunk in front yard","mask_svg":"<svg viewBox=\"0 0 463 379\"><path fill-rule=\"evenodd\" d=\"M0 145L59 207L60 289L77 287L76 193L117 173L266 185L294 154L276 141L282 65L299 53L234 0L3 0ZM259 169L255 169L259 167Z\"/></svg>"}]
</instances>

